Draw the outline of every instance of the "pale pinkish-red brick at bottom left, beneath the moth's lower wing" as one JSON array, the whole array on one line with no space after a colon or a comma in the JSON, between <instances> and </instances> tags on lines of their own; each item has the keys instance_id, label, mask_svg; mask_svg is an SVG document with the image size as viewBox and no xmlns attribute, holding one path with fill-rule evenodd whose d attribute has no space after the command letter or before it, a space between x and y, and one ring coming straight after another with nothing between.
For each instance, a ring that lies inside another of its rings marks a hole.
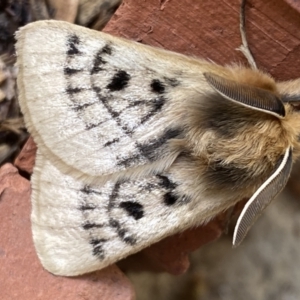
<instances>
[{"instance_id":1,"label":"pale pinkish-red brick at bottom left, beneath the moth's lower wing","mask_svg":"<svg viewBox=\"0 0 300 300\"><path fill-rule=\"evenodd\" d=\"M132 300L134 291L116 267L73 278L44 270L30 229L30 183L11 164L0 169L1 300Z\"/></svg>"}]
</instances>

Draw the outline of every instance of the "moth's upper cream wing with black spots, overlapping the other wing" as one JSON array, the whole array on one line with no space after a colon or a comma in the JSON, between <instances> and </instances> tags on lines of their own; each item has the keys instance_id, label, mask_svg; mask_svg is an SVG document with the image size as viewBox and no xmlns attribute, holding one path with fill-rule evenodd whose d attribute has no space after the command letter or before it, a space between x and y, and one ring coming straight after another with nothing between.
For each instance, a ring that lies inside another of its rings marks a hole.
<instances>
[{"instance_id":1,"label":"moth's upper cream wing with black spots, overlapping the other wing","mask_svg":"<svg viewBox=\"0 0 300 300\"><path fill-rule=\"evenodd\" d=\"M59 21L29 24L17 40L20 105L52 163L90 182L162 171L182 150L169 141L183 129L178 102L197 94L183 74L204 81L199 61Z\"/></svg>"}]
</instances>

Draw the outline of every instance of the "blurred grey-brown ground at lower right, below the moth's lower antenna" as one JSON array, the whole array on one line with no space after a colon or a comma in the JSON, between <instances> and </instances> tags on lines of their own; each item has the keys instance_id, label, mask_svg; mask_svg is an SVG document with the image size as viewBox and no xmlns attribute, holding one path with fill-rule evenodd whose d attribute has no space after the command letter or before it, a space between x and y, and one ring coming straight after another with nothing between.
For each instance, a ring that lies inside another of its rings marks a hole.
<instances>
[{"instance_id":1,"label":"blurred grey-brown ground at lower right, below the moth's lower antenna","mask_svg":"<svg viewBox=\"0 0 300 300\"><path fill-rule=\"evenodd\" d=\"M300 197L285 190L232 248L232 230L190 255L186 274L128 276L138 300L300 299ZM234 224L231 224L234 225Z\"/></svg>"}]
</instances>

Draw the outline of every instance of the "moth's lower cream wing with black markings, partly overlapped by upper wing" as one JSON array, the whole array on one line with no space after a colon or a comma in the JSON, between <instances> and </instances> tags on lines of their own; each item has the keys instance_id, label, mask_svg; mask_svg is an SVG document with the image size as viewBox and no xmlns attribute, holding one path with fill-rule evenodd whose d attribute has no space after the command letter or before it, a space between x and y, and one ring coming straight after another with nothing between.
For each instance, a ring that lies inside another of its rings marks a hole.
<instances>
[{"instance_id":1,"label":"moth's lower cream wing with black markings, partly overlapped by upper wing","mask_svg":"<svg viewBox=\"0 0 300 300\"><path fill-rule=\"evenodd\" d=\"M221 199L185 193L178 170L99 187L61 173L38 151L31 219L43 266L66 276L95 271L207 221Z\"/></svg>"}]
</instances>

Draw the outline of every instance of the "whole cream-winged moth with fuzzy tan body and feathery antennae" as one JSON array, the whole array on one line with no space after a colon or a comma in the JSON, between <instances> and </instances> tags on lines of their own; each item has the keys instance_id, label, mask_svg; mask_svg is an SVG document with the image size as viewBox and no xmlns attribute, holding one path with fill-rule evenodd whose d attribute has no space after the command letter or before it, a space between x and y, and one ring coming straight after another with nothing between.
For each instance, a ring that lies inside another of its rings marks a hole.
<instances>
[{"instance_id":1,"label":"whole cream-winged moth with fuzzy tan body and feathery antennae","mask_svg":"<svg viewBox=\"0 0 300 300\"><path fill-rule=\"evenodd\" d=\"M29 24L17 40L20 105L38 145L33 238L50 272L101 269L248 197L238 245L286 185L299 81L60 21Z\"/></svg>"}]
</instances>

